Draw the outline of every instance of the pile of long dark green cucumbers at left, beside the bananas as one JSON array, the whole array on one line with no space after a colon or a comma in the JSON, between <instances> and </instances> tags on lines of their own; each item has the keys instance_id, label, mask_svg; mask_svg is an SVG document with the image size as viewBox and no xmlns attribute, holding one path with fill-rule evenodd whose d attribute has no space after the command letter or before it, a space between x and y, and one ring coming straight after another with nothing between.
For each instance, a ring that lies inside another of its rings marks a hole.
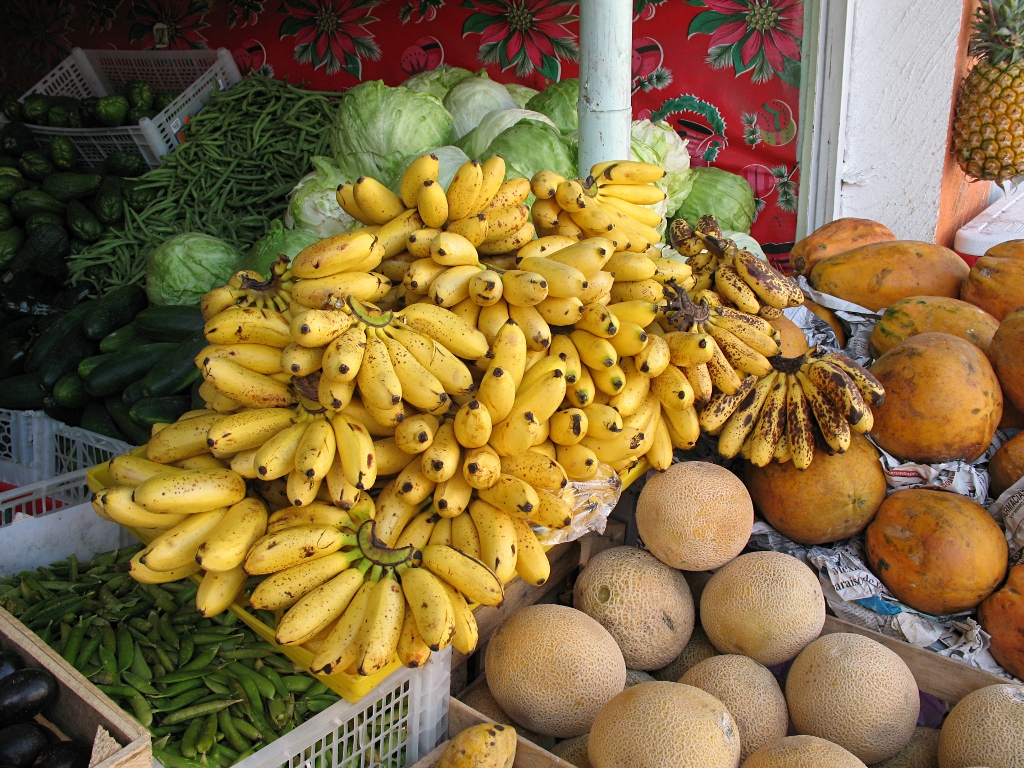
<instances>
[{"instance_id":1,"label":"pile of long dark green cucumbers at left, beside the bananas","mask_svg":"<svg viewBox=\"0 0 1024 768\"><path fill-rule=\"evenodd\" d=\"M38 326L22 371L0 380L0 408L41 409L141 445L154 424L173 422L201 401L199 307L146 307L139 286L122 286Z\"/></svg>"}]
</instances>

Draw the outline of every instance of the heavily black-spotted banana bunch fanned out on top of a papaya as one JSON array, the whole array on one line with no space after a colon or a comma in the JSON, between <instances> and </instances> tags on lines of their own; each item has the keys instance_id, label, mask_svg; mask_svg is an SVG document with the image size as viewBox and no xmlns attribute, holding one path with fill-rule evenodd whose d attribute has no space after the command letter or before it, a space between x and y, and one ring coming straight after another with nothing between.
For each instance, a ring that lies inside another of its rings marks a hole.
<instances>
[{"instance_id":1,"label":"heavily black-spotted banana bunch fanned out on top of a papaya","mask_svg":"<svg viewBox=\"0 0 1024 768\"><path fill-rule=\"evenodd\" d=\"M812 349L772 357L765 376L748 376L733 394L712 396L700 426L718 435L718 451L763 467L772 460L806 469L815 445L829 454L850 446L851 430L868 432L871 407L885 397L879 381L838 352Z\"/></svg>"}]
</instances>

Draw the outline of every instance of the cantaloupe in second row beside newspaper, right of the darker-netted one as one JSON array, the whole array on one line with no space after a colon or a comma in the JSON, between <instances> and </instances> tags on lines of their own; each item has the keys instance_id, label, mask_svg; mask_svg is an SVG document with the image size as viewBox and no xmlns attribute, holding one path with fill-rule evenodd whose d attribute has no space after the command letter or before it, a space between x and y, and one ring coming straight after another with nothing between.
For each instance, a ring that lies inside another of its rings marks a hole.
<instances>
[{"instance_id":1,"label":"cantaloupe in second row beside newspaper, right of the darker-netted one","mask_svg":"<svg viewBox=\"0 0 1024 768\"><path fill-rule=\"evenodd\" d=\"M708 582L700 623L719 652L770 667L790 660L821 633L825 599L817 577L796 557L749 552Z\"/></svg>"}]
</instances>

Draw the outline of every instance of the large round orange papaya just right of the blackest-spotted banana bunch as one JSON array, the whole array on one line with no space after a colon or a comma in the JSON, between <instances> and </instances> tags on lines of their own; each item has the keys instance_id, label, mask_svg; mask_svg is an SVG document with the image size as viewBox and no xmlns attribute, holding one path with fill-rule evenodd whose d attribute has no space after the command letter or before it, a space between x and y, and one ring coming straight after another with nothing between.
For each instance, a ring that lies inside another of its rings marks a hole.
<instances>
[{"instance_id":1,"label":"large round orange papaya just right of the blackest-spotted banana bunch","mask_svg":"<svg viewBox=\"0 0 1024 768\"><path fill-rule=\"evenodd\" d=\"M978 347L951 334L901 341L871 373L886 390L872 409L871 437L893 456L923 464L973 462L1002 417L1002 393Z\"/></svg>"}]
</instances>

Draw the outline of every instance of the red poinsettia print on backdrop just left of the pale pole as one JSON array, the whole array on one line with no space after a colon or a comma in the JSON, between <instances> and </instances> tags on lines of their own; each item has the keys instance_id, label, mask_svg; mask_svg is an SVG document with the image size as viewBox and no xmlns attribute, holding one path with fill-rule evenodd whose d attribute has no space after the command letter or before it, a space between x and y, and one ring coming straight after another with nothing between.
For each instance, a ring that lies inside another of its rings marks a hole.
<instances>
[{"instance_id":1,"label":"red poinsettia print on backdrop just left of the pale pole","mask_svg":"<svg viewBox=\"0 0 1024 768\"><path fill-rule=\"evenodd\" d=\"M466 0L471 13L462 36L480 35L477 56L503 70L515 67L518 77L535 70L549 80L561 76L561 61L579 61L577 36L565 27L580 20L575 3L557 0Z\"/></svg>"}]
</instances>

